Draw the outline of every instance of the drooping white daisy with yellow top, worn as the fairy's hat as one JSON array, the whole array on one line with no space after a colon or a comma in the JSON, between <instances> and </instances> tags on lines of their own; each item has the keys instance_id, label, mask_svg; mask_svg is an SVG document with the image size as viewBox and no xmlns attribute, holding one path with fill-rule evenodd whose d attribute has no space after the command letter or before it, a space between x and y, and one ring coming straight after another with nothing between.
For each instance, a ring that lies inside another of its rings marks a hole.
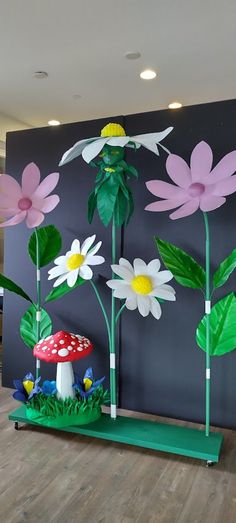
<instances>
[{"instance_id":1,"label":"drooping white daisy with yellow top, worn as the fairy's hat","mask_svg":"<svg viewBox=\"0 0 236 523\"><path fill-rule=\"evenodd\" d=\"M85 162L89 163L93 160L103 149L104 145L111 145L113 147L132 147L139 149L141 145L159 156L157 144L162 147L167 153L168 149L160 144L162 140L173 130L173 127L168 127L164 131L158 133L139 134L137 136L126 136L124 128L117 123L107 124L101 131L101 136L93 138L85 138L76 142L71 149L68 149L59 163L71 162L77 156L82 154Z\"/></svg>"}]
</instances>

